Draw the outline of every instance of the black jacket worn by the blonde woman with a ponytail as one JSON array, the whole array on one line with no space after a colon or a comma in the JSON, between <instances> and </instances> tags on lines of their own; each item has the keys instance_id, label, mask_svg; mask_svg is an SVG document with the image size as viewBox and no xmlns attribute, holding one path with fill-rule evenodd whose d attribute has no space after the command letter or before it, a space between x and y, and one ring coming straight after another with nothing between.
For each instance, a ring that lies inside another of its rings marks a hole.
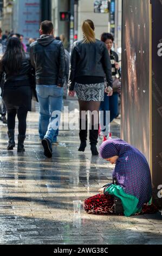
<instances>
[{"instance_id":1,"label":"black jacket worn by the blonde woman with a ponytail","mask_svg":"<svg viewBox=\"0 0 162 256\"><path fill-rule=\"evenodd\" d=\"M70 72L69 90L74 90L75 78L79 76L105 77L109 86L112 86L112 64L104 42L85 44L83 40L74 42Z\"/></svg>"}]
</instances>

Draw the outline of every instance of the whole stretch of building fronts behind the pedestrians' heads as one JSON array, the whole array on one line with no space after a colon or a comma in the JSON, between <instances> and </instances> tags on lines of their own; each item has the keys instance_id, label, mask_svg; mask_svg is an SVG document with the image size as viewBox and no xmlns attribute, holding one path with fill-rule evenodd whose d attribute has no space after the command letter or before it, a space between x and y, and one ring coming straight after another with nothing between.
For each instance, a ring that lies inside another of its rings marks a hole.
<instances>
[{"instance_id":1,"label":"whole stretch of building fronts behind the pedestrians' heads","mask_svg":"<svg viewBox=\"0 0 162 256\"><path fill-rule=\"evenodd\" d=\"M121 3L122 0L115 1L115 50L121 50ZM112 2L113 2L112 1ZM55 36L64 34L67 41L72 46L74 40L82 39L81 23L83 20L91 19L95 24L96 38L100 39L103 32L111 31L110 13L94 13L94 0L0 0L0 17L1 5L2 11L2 28L3 31L14 31L15 33L25 34L25 38L33 36L32 26L37 26L43 20L52 20L54 23ZM34 4L40 3L40 13ZM31 6L29 6L31 4ZM25 7L28 5L28 8ZM33 10L30 11L33 7ZM24 10L25 9L25 10ZM34 14L35 11L35 15ZM60 13L65 12L71 15L70 20L61 21ZM29 13L29 14L27 14ZM31 14L32 13L32 14ZM26 15L27 14L27 15ZM26 15L26 23L24 21ZM39 15L39 16L38 16ZM28 20L29 16L31 19ZM36 19L34 19L34 16ZM23 21L23 22L22 22ZM30 22L31 23L30 23ZM28 23L28 26L26 26ZM30 23L30 24L29 24ZM23 28L24 27L24 28ZM32 35L30 35L30 33ZM36 36L35 35L35 36Z\"/></svg>"}]
</instances>

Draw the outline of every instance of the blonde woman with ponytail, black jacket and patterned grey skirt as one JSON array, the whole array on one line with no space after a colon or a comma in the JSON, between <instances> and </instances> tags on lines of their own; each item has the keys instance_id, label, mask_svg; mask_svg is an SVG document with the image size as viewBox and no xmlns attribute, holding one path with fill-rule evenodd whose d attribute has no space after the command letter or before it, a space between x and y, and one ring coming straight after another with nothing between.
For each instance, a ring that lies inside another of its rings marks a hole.
<instances>
[{"instance_id":1,"label":"blonde woman with ponytail, black jacket and patterned grey skirt","mask_svg":"<svg viewBox=\"0 0 162 256\"><path fill-rule=\"evenodd\" d=\"M82 111L95 111L97 117L91 120L89 141L92 155L98 155L99 108L104 100L104 80L107 87L112 85L112 66L107 48L103 42L95 39L95 27L91 20L82 23L83 39L74 42L69 74L69 96L77 94L80 106L80 148L84 152L87 141L87 118Z\"/></svg>"}]
</instances>

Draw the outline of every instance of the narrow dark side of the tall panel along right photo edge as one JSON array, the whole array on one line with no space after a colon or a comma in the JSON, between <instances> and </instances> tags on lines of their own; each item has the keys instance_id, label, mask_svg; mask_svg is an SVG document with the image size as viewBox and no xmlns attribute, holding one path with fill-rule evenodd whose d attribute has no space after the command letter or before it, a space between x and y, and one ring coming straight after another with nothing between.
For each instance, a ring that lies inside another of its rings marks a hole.
<instances>
[{"instance_id":1,"label":"narrow dark side of the tall panel along right photo edge","mask_svg":"<svg viewBox=\"0 0 162 256\"><path fill-rule=\"evenodd\" d=\"M162 56L158 54L158 45L162 39L159 24L162 22L162 2L152 3L152 166L153 192L156 204L162 208L162 198L158 198L159 185L162 184ZM162 187L162 185L161 185Z\"/></svg>"}]
</instances>

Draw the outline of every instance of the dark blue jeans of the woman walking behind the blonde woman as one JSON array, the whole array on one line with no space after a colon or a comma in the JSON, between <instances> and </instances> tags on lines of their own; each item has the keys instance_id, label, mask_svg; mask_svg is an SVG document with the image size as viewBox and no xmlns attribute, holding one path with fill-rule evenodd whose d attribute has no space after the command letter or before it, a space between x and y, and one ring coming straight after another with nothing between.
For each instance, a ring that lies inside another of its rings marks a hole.
<instances>
[{"instance_id":1,"label":"dark blue jeans of the woman walking behind the blonde woman","mask_svg":"<svg viewBox=\"0 0 162 256\"><path fill-rule=\"evenodd\" d=\"M100 111L103 111L103 125L106 126L106 111L110 111L110 123L113 121L114 118L118 116L118 93L114 93L112 96L107 96L105 93L104 101L101 102ZM101 127L102 131L103 129Z\"/></svg>"}]
</instances>

